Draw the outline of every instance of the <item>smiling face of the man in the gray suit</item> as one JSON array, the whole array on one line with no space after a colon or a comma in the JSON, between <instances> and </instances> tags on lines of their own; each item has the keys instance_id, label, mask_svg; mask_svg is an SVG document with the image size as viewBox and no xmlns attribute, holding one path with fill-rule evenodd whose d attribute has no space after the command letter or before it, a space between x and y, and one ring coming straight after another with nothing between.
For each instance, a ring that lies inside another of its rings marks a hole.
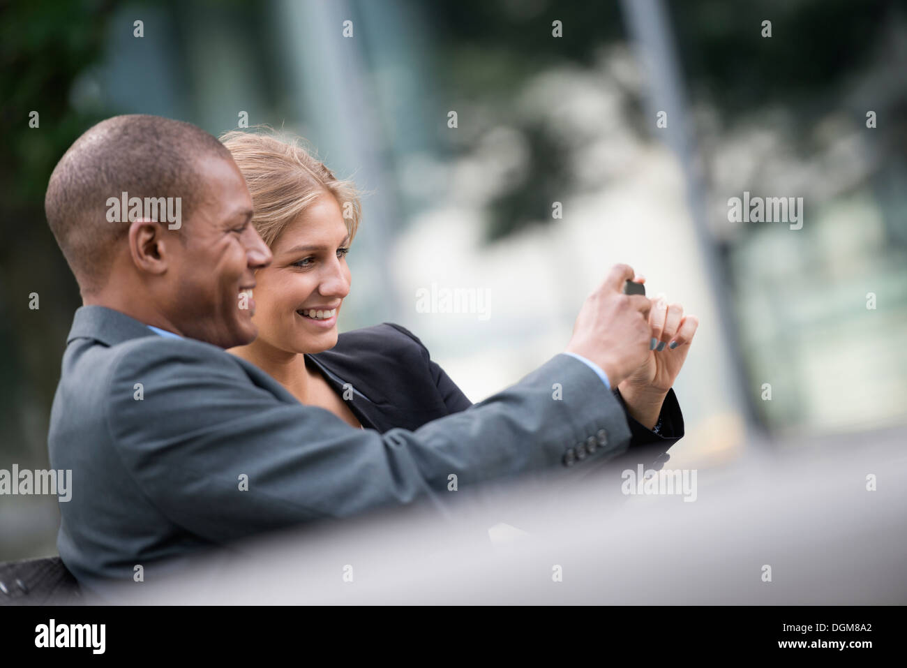
<instances>
[{"instance_id":1,"label":"smiling face of the man in the gray suit","mask_svg":"<svg viewBox=\"0 0 907 668\"><path fill-rule=\"evenodd\" d=\"M252 198L236 163L210 156L199 161L208 186L189 221L172 234L168 312L183 336L221 348L255 339L252 323L255 270L271 252L252 226Z\"/></svg>"}]
</instances>

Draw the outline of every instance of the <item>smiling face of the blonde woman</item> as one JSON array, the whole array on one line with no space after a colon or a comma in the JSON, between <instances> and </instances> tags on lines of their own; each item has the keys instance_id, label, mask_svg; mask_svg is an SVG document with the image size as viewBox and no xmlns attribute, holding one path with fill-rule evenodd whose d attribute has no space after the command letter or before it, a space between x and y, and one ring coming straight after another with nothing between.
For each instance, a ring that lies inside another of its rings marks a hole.
<instances>
[{"instance_id":1,"label":"smiling face of the blonde woman","mask_svg":"<svg viewBox=\"0 0 907 668\"><path fill-rule=\"evenodd\" d=\"M296 353L336 345L350 284L347 243L340 206L327 192L288 224L271 247L274 260L255 274L258 341Z\"/></svg>"}]
</instances>

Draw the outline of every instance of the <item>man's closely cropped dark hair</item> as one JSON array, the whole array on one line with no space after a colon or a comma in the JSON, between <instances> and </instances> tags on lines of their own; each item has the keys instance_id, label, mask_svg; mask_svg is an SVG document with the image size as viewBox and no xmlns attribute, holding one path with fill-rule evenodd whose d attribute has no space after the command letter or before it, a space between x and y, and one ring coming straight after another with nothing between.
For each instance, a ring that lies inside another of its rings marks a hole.
<instances>
[{"instance_id":1,"label":"man's closely cropped dark hair","mask_svg":"<svg viewBox=\"0 0 907 668\"><path fill-rule=\"evenodd\" d=\"M51 174L44 212L83 294L104 286L116 246L129 231L127 211L119 221L108 220L108 200L122 200L123 192L141 201L179 197L180 224L188 221L207 196L198 164L210 155L232 160L195 125L143 114L109 118L73 143Z\"/></svg>"}]
</instances>

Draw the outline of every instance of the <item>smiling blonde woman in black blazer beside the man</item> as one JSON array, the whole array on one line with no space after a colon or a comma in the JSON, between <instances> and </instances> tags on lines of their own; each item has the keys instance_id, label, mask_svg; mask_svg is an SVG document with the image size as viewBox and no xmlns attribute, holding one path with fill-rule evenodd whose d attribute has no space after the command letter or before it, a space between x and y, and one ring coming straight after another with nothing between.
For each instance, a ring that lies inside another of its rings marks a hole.
<instances>
[{"instance_id":1,"label":"smiling blonde woman in black blazer beside the man","mask_svg":"<svg viewBox=\"0 0 907 668\"><path fill-rule=\"evenodd\" d=\"M249 185L253 224L274 256L256 274L258 338L229 352L268 372L301 403L325 408L354 427L412 430L469 408L470 400L409 330L383 323L337 334L337 313L350 290L346 253L361 215L354 186L337 180L295 140L236 131L220 140ZM659 346L634 378L613 388L628 412L630 446L656 445L652 458L683 436L670 385L686 358L690 329L695 331L694 317L678 317L679 305L660 304L653 304L653 331L667 344L684 330L687 342L664 354ZM666 396L654 412L629 399L635 388L644 390L639 396L658 394L649 389L659 383Z\"/></svg>"}]
</instances>

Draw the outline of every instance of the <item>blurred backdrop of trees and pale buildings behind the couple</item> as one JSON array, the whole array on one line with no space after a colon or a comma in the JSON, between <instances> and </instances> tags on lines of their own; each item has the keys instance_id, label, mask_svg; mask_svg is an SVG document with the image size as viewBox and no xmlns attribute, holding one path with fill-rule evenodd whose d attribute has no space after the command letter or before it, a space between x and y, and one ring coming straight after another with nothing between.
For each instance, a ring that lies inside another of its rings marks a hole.
<instances>
[{"instance_id":1,"label":"blurred backdrop of trees and pale buildings behind the couple","mask_svg":"<svg viewBox=\"0 0 907 668\"><path fill-rule=\"evenodd\" d=\"M560 352L627 262L700 321L674 466L903 440L903 3L0 7L0 468L49 466L81 305L44 220L47 180L120 113L304 136L368 193L340 330L404 325L473 401ZM745 192L803 198L803 227L731 221ZM444 290L479 299L419 307ZM55 554L58 523L54 496L0 496L0 560Z\"/></svg>"}]
</instances>

